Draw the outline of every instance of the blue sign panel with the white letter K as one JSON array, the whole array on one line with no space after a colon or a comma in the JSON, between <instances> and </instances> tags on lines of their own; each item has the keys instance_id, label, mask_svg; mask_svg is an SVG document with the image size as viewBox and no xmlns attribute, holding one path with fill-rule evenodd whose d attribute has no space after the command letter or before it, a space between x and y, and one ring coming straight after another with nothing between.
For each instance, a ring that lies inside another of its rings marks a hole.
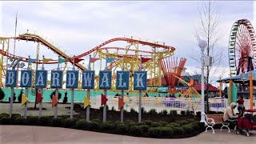
<instances>
[{"instance_id":1,"label":"blue sign panel with the white letter K","mask_svg":"<svg viewBox=\"0 0 256 144\"><path fill-rule=\"evenodd\" d=\"M146 71L134 71L134 90L146 90Z\"/></svg>"}]
</instances>

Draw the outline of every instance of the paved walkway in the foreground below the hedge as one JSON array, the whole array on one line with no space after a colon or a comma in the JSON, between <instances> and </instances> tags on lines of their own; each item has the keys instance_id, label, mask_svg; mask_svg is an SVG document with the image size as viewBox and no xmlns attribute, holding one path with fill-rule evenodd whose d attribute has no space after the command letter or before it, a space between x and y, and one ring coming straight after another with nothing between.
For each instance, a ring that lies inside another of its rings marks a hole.
<instances>
[{"instance_id":1,"label":"paved walkway in the foreground below the hedge","mask_svg":"<svg viewBox=\"0 0 256 144\"><path fill-rule=\"evenodd\" d=\"M56 127L43 126L0 126L0 143L22 144L22 143L182 143L182 144L198 144L198 143L254 143L256 142L256 131L253 131L249 137L245 135L234 134L224 131L215 131L216 134L203 132L193 138L183 139L157 139L157 138L136 138L117 134L102 134L84 130L73 130Z\"/></svg>"}]
</instances>

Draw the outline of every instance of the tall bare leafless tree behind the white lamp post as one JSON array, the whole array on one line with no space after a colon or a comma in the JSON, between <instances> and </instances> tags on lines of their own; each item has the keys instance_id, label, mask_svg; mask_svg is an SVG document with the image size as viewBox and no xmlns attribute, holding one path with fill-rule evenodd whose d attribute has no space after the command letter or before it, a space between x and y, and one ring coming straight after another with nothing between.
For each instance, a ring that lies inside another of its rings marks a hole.
<instances>
[{"instance_id":1,"label":"tall bare leafless tree behind the white lamp post","mask_svg":"<svg viewBox=\"0 0 256 144\"><path fill-rule=\"evenodd\" d=\"M209 104L209 84L216 82L217 72L221 75L224 74L222 68L224 67L223 62L223 46L220 44L223 36L223 30L220 26L220 17L219 7L215 2L206 1L202 2L201 6L198 6L198 24L194 26L194 37L199 39L204 39L208 43L205 55L211 56L213 58L212 66L206 66L206 102L207 108ZM201 62L198 55L191 55L190 58L194 59L196 62ZM209 110L206 109L206 112Z\"/></svg>"}]
</instances>

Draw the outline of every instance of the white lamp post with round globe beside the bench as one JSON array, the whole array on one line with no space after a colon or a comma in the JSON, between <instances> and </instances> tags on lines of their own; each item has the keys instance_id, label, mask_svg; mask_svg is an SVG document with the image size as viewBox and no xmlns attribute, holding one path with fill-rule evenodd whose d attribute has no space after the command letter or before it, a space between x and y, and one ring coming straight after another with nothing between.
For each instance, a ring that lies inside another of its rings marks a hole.
<instances>
[{"instance_id":1,"label":"white lamp post with round globe beside the bench","mask_svg":"<svg viewBox=\"0 0 256 144\"><path fill-rule=\"evenodd\" d=\"M205 40L199 40L198 41L198 46L201 49L201 62L202 62L202 67L201 67L201 101L202 101L202 110L201 110L201 121L200 122L205 122L205 81L204 81L204 65L205 65L205 59L204 59L204 50L207 46L207 42Z\"/></svg>"}]
</instances>

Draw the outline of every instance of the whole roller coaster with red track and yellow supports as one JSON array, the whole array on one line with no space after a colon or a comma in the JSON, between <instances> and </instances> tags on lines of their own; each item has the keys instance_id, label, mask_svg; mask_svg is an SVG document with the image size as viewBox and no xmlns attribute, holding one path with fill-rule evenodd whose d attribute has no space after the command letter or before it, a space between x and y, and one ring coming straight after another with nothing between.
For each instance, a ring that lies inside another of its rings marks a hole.
<instances>
[{"instance_id":1,"label":"whole roller coaster with red track and yellow supports","mask_svg":"<svg viewBox=\"0 0 256 144\"><path fill-rule=\"evenodd\" d=\"M0 50L0 86L5 86L5 78L6 78L6 70L7 66L10 63L9 59L19 59L20 62L28 62L28 58L18 56L16 54L10 54L10 41L26 41L26 42L35 42L36 46L36 62L33 62L31 66L32 70L38 70L38 66L43 63L41 45L45 46L47 49L51 50L54 54L57 54L61 58L66 59L66 64L63 67L60 67L60 70L70 70L68 63L73 62L73 58L84 58L86 56L91 55L92 58L101 58L100 61L100 70L102 70L102 60L106 58L116 58L113 62L110 62L108 66L106 66L107 70L112 70L113 73L113 82L112 89L115 90L116 83L116 71L121 70L122 67L124 70L130 70L130 78L133 77L133 71L139 70L140 64L142 64L142 69L144 71L148 71L148 78L154 79L158 78L158 81L150 80L147 83L147 86L161 86L162 85L162 68L158 65L158 59L167 58L174 55L175 48L172 46L166 46L165 42L156 42L153 40L135 38L135 37L125 37L125 38L112 38L102 44L95 46L93 49L86 51L85 53L76 55L75 57L66 54L62 50L60 50L59 46L55 46L52 42L46 40L46 38L42 38L37 34L19 34L17 37L0 38L0 46L2 50ZM125 47L116 47L116 46L106 46L111 42L128 42L128 45ZM106 47L104 47L106 46ZM142 50L146 46L146 50ZM17 50L18 48L16 48ZM103 61L104 62L104 61ZM50 62L44 63L46 65L56 64L58 60L51 60ZM74 64L76 70L88 70L87 66L84 66L82 62L78 62ZM93 63L94 69L94 63ZM97 64L98 68L98 64ZM22 70L23 68L18 68L18 70ZM54 70L54 69L53 69ZM105 70L105 69L104 69ZM66 73L64 73L66 74ZM66 83L66 76L63 76L64 83ZM34 83L34 82L33 82ZM48 82L50 84L50 82ZM95 83L98 83L98 75L96 75ZM130 90L133 87L133 82L130 81ZM47 86L50 87L49 85ZM81 78L79 79L78 87L81 89ZM98 90L98 85L96 85L96 89ZM128 90L128 91L130 91Z\"/></svg>"}]
</instances>

